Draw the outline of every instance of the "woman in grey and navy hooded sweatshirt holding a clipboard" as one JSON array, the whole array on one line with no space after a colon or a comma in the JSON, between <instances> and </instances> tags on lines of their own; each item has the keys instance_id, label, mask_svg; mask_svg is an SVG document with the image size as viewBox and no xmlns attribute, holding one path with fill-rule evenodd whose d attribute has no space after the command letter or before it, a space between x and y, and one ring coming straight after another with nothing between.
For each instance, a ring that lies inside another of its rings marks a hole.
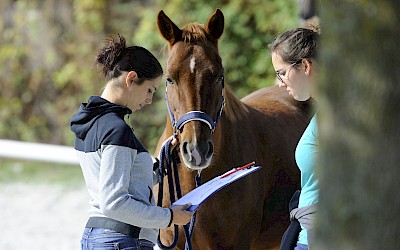
<instances>
[{"instance_id":1,"label":"woman in grey and navy hooded sweatshirt holding a clipboard","mask_svg":"<svg viewBox=\"0 0 400 250\"><path fill-rule=\"evenodd\" d=\"M152 192L153 159L124 116L151 104L163 70L145 48L107 40L97 64L107 83L71 120L75 150L91 197L82 249L153 249L159 228L184 225L188 207L162 208ZM176 143L176 142L175 142Z\"/></svg>"}]
</instances>

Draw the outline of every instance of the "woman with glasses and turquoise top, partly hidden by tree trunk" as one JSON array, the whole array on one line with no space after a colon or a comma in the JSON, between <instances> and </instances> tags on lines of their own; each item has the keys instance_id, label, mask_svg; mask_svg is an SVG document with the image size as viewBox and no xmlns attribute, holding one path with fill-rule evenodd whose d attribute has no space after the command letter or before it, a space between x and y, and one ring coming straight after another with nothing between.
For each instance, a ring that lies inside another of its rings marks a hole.
<instances>
[{"instance_id":1,"label":"woman with glasses and turquoise top, partly hidden by tree trunk","mask_svg":"<svg viewBox=\"0 0 400 250\"><path fill-rule=\"evenodd\" d=\"M314 98L317 77L319 34L311 29L288 30L268 45L279 86L286 88L297 101ZM301 192L290 201L291 224L286 230L281 249L308 249L318 203L318 179L315 174L318 146L317 120L314 116L302 135L295 152L301 173Z\"/></svg>"}]
</instances>

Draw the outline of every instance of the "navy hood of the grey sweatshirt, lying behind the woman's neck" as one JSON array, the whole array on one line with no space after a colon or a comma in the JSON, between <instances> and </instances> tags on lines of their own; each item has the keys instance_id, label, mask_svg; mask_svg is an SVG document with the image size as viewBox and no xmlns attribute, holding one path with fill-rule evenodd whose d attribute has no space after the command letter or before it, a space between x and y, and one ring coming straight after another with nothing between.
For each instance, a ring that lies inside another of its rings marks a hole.
<instances>
[{"instance_id":1,"label":"navy hood of the grey sweatshirt, lying behind the woman's neck","mask_svg":"<svg viewBox=\"0 0 400 250\"><path fill-rule=\"evenodd\" d=\"M78 111L72 116L71 130L76 137L85 139L96 120L111 112L116 113L122 119L125 115L132 113L127 107L111 103L100 96L91 96L88 102L82 103Z\"/></svg>"}]
</instances>

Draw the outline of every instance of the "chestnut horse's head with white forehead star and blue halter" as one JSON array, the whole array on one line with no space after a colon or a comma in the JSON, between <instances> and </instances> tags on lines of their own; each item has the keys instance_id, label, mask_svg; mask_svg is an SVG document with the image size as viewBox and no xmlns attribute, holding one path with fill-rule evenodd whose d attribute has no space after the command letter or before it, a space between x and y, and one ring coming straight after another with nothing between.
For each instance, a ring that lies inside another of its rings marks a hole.
<instances>
[{"instance_id":1,"label":"chestnut horse's head with white forehead star and blue halter","mask_svg":"<svg viewBox=\"0 0 400 250\"><path fill-rule=\"evenodd\" d=\"M211 136L224 104L224 68L218 54L224 16L217 9L205 25L180 29L160 11L157 24L169 43L166 100L172 126L185 165L201 170L211 162Z\"/></svg>"}]
</instances>

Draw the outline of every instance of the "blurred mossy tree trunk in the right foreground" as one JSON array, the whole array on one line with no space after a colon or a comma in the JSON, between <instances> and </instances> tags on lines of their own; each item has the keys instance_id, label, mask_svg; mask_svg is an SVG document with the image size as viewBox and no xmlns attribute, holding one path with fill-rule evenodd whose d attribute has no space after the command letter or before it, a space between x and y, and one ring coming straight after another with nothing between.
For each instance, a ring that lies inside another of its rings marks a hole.
<instances>
[{"instance_id":1,"label":"blurred mossy tree trunk in the right foreground","mask_svg":"<svg viewBox=\"0 0 400 250\"><path fill-rule=\"evenodd\" d=\"M314 249L400 249L400 1L322 1Z\"/></svg>"}]
</instances>

